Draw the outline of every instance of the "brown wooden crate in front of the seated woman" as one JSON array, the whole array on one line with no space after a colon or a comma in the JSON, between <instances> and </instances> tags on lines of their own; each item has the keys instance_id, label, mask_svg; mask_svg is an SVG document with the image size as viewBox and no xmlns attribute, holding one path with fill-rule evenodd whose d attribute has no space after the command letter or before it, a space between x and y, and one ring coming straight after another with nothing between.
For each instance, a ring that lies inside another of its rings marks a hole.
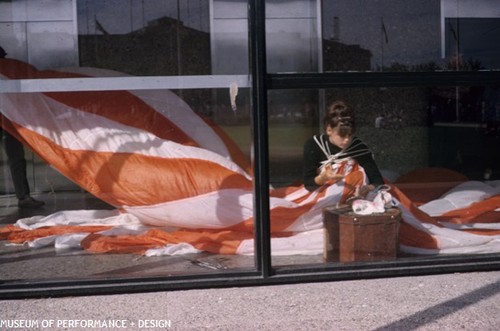
<instances>
[{"instance_id":1,"label":"brown wooden crate in front of the seated woman","mask_svg":"<svg viewBox=\"0 0 500 331\"><path fill-rule=\"evenodd\" d=\"M397 257L401 212L357 215L350 207L323 210L324 258L327 262L379 261Z\"/></svg>"}]
</instances>

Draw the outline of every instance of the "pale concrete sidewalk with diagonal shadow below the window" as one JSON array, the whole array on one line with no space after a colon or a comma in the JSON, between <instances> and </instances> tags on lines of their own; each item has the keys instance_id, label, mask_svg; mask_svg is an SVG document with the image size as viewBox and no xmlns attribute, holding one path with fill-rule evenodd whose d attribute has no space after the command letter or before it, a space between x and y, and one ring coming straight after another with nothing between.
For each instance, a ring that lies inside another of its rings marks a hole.
<instances>
[{"instance_id":1,"label":"pale concrete sidewalk with diagonal shadow below the window","mask_svg":"<svg viewBox=\"0 0 500 331\"><path fill-rule=\"evenodd\" d=\"M96 330L107 323L126 330L496 331L500 271L7 300L0 311L0 330L24 321L38 330Z\"/></svg>"}]
</instances>

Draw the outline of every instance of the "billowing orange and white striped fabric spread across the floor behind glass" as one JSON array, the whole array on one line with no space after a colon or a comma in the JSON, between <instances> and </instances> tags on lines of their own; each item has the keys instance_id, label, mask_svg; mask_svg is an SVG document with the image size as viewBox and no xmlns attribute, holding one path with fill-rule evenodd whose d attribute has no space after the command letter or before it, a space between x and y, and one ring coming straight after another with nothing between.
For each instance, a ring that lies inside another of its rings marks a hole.
<instances>
[{"instance_id":1,"label":"billowing orange and white striped fabric spread across the floor behind glass","mask_svg":"<svg viewBox=\"0 0 500 331\"><path fill-rule=\"evenodd\" d=\"M102 69L38 71L0 59L2 79L118 76ZM215 125L170 91L0 93L2 126L113 211L61 211L19 220L0 238L33 246L78 246L92 252L253 253L253 183L244 154ZM363 169L314 192L270 189L272 253L318 254L322 210L364 184ZM449 224L461 215L430 217L393 187L410 252L500 251L498 230ZM498 200L474 207L498 225ZM487 200L490 201L490 200ZM463 211L470 218L470 210ZM455 221L454 221L455 220ZM441 220L442 221L442 220ZM474 218L474 222L481 222ZM443 224L447 224L446 226ZM491 227L491 226L490 226ZM478 238L473 240L471 238Z\"/></svg>"}]
</instances>

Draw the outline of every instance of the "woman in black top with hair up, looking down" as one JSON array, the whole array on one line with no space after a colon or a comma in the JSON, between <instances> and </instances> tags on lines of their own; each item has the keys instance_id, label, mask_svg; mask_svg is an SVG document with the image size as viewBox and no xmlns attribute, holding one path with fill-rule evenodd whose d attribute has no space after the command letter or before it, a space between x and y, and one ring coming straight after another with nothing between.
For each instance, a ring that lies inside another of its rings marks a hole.
<instances>
[{"instance_id":1,"label":"woman in black top with hair up, looking down","mask_svg":"<svg viewBox=\"0 0 500 331\"><path fill-rule=\"evenodd\" d=\"M369 186L363 191L373 190L384 184L372 152L355 133L354 113L342 101L335 101L327 110L323 119L325 134L315 135L304 144L303 175L304 186L309 191L335 183L344 175L344 169L353 161L365 171Z\"/></svg>"}]
</instances>

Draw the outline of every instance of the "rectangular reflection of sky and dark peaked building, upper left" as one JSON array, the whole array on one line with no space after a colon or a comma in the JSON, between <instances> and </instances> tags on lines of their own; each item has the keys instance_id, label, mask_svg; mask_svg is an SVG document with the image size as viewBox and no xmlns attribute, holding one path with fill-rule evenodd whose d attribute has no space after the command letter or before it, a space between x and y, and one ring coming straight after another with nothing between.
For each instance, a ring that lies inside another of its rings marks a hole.
<instances>
[{"instance_id":1,"label":"rectangular reflection of sky and dark peaked building, upper left","mask_svg":"<svg viewBox=\"0 0 500 331\"><path fill-rule=\"evenodd\" d=\"M206 75L208 1L78 1L82 66L136 76Z\"/></svg>"}]
</instances>

